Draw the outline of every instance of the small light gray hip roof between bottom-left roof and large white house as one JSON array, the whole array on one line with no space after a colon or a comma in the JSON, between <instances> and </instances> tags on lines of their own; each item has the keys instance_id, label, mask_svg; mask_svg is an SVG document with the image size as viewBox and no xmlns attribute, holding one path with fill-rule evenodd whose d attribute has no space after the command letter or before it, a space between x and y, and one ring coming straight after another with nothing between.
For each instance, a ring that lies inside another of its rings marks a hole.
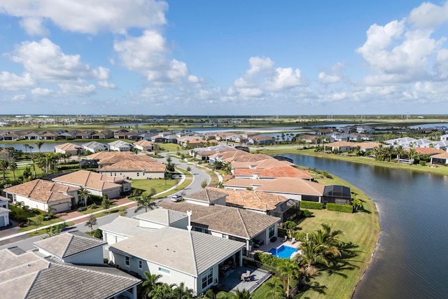
<instances>
[{"instance_id":1,"label":"small light gray hip roof between bottom-left roof and large white house","mask_svg":"<svg viewBox=\"0 0 448 299\"><path fill-rule=\"evenodd\" d=\"M73 254L87 251L104 244L106 242L103 240L90 237L83 232L66 232L34 243L36 247L48 251L58 258L73 256Z\"/></svg>"}]
</instances>

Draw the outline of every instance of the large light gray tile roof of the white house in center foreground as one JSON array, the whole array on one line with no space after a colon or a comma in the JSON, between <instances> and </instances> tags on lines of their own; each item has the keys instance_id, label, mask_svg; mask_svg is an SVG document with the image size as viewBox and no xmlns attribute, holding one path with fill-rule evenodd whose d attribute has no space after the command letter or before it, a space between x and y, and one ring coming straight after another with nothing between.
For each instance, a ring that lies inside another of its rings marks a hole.
<instances>
[{"instance_id":1,"label":"large light gray tile roof of the white house in center foreground","mask_svg":"<svg viewBox=\"0 0 448 299\"><path fill-rule=\"evenodd\" d=\"M110 251L130 254L197 277L244 247L243 242L202 232L165 227L151 235L125 239Z\"/></svg>"}]
</instances>

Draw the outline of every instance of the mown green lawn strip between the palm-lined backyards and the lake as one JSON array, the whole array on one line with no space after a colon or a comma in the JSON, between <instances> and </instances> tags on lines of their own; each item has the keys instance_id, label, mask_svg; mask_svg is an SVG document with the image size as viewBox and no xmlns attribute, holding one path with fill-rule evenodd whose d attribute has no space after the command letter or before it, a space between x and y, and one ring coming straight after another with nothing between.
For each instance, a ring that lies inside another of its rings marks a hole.
<instances>
[{"instance_id":1,"label":"mown green lawn strip between the palm-lined backyards and the lake","mask_svg":"<svg viewBox=\"0 0 448 299\"><path fill-rule=\"evenodd\" d=\"M335 272L321 270L319 275L311 280L311 285L317 285L319 288L309 288L301 298L351 298L353 289L370 263L370 258L378 242L380 232L378 211L374 202L367 195L349 183L338 178L318 179L318 181L325 185L349 186L353 192L358 193L360 200L363 200L364 211L346 214L309 209L313 216L305 218L300 223L300 232L311 233L320 229L321 223L328 223L333 230L342 230L343 235L339 239L342 242L352 242L355 246L352 250L356 252L356 256L346 260L349 263L347 267L342 267Z\"/></svg>"}]
</instances>

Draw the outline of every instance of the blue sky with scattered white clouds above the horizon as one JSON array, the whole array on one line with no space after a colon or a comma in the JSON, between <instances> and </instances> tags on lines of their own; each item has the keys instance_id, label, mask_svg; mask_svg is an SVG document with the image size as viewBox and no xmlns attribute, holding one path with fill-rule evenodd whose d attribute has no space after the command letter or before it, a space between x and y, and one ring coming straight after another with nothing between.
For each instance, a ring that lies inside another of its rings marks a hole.
<instances>
[{"instance_id":1,"label":"blue sky with scattered white clouds above the horizon","mask_svg":"<svg viewBox=\"0 0 448 299\"><path fill-rule=\"evenodd\" d=\"M0 115L448 113L448 1L0 0Z\"/></svg>"}]
</instances>

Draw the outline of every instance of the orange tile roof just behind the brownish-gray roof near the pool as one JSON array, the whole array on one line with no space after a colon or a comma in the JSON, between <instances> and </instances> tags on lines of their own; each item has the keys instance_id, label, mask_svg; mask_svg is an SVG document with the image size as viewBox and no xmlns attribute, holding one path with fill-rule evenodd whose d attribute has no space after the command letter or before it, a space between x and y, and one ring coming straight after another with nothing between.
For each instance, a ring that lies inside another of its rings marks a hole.
<instances>
[{"instance_id":1,"label":"orange tile roof just behind the brownish-gray roof near the pool","mask_svg":"<svg viewBox=\"0 0 448 299\"><path fill-rule=\"evenodd\" d=\"M218 188L207 188L209 190L216 190ZM218 189L223 190L223 189ZM275 195L271 193L256 191L256 190L225 190L228 193L225 202L231 205L237 205L248 209L258 209L260 211L269 211L276 209L276 205L281 202L286 202L288 198Z\"/></svg>"}]
</instances>

